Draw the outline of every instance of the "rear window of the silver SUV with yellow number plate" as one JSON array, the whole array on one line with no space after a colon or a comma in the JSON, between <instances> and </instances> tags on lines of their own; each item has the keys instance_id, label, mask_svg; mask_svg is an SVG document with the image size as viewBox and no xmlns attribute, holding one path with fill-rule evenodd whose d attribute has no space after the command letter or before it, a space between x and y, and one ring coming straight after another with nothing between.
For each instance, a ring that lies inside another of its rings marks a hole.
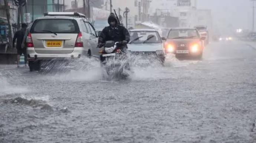
<instances>
[{"instance_id":1,"label":"rear window of the silver SUV with yellow number plate","mask_svg":"<svg viewBox=\"0 0 256 143\"><path fill-rule=\"evenodd\" d=\"M33 23L30 33L78 33L78 23L73 19L38 19Z\"/></svg>"}]
</instances>

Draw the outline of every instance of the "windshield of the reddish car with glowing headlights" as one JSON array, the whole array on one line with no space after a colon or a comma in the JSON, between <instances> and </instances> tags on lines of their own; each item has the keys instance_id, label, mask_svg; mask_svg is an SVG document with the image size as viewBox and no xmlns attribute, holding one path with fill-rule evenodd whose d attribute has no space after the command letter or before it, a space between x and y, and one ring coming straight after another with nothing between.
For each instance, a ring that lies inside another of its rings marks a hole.
<instances>
[{"instance_id":1,"label":"windshield of the reddish car with glowing headlights","mask_svg":"<svg viewBox=\"0 0 256 143\"><path fill-rule=\"evenodd\" d=\"M198 39L199 35L195 29L171 29L168 39Z\"/></svg>"}]
</instances>

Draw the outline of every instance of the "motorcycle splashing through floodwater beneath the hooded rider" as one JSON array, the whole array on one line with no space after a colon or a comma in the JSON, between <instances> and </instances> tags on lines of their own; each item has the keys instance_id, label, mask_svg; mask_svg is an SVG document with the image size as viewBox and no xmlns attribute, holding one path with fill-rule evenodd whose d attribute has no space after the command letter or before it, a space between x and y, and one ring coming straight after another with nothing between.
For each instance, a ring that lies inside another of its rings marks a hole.
<instances>
[{"instance_id":1,"label":"motorcycle splashing through floodwater beneath the hooded rider","mask_svg":"<svg viewBox=\"0 0 256 143\"><path fill-rule=\"evenodd\" d=\"M100 61L108 78L124 79L128 77L129 74L124 72L127 68L127 61L125 61L127 58L121 50L122 42L106 41L98 47L102 46L104 46L104 50L99 51L101 53Z\"/></svg>"}]
</instances>

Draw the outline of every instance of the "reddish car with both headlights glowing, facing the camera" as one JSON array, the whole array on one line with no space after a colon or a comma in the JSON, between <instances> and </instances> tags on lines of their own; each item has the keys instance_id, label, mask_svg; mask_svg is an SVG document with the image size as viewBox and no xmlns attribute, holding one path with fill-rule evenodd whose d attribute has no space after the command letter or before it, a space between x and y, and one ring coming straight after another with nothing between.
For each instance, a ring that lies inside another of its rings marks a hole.
<instances>
[{"instance_id":1,"label":"reddish car with both headlights glowing, facing the camera","mask_svg":"<svg viewBox=\"0 0 256 143\"><path fill-rule=\"evenodd\" d=\"M165 50L175 54L178 59L196 57L200 60L203 56L204 39L196 28L172 28L165 42Z\"/></svg>"}]
</instances>

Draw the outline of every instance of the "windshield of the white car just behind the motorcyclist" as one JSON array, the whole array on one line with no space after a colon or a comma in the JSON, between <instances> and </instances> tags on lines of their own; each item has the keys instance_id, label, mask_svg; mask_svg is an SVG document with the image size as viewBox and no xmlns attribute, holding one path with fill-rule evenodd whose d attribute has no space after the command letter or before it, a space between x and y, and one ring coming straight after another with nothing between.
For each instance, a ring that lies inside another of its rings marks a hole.
<instances>
[{"instance_id":1,"label":"windshield of the white car just behind the motorcyclist","mask_svg":"<svg viewBox=\"0 0 256 143\"><path fill-rule=\"evenodd\" d=\"M130 43L161 43L157 31L130 31Z\"/></svg>"}]
</instances>

